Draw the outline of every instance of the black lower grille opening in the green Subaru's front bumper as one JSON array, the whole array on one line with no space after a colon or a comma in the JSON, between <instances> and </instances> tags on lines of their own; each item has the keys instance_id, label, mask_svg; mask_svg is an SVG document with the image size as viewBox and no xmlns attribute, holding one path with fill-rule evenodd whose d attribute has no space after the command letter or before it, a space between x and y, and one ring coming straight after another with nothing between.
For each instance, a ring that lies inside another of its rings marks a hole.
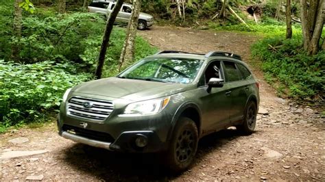
<instances>
[{"instance_id":1,"label":"black lower grille opening in the green Subaru's front bumper","mask_svg":"<svg viewBox=\"0 0 325 182\"><path fill-rule=\"evenodd\" d=\"M69 133L73 132L75 135L80 135L85 138L89 138L92 140L99 140L101 142L114 142L114 138L108 133L100 132L100 131L93 131L90 129L83 129L80 127L74 127L71 125L63 125L63 131L67 131Z\"/></svg>"}]
</instances>

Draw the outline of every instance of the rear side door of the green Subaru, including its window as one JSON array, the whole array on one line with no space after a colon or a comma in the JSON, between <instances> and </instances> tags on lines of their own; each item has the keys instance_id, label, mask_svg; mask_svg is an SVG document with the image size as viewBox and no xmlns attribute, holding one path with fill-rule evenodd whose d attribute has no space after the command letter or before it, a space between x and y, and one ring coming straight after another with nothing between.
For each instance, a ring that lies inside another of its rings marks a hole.
<instances>
[{"instance_id":1,"label":"rear side door of the green Subaru, including its window","mask_svg":"<svg viewBox=\"0 0 325 182\"><path fill-rule=\"evenodd\" d=\"M227 94L231 98L230 121L234 122L243 118L248 100L248 81L243 78L243 74L235 62L223 61L222 66L226 76L226 85L229 88Z\"/></svg>"}]
</instances>

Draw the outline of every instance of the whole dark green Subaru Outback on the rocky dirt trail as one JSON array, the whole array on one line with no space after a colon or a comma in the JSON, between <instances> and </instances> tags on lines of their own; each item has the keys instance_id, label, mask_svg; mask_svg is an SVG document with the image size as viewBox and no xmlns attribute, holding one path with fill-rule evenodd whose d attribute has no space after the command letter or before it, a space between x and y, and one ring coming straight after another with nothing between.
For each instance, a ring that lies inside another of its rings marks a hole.
<instances>
[{"instance_id":1,"label":"whole dark green Subaru Outback on the rocky dirt trail","mask_svg":"<svg viewBox=\"0 0 325 182\"><path fill-rule=\"evenodd\" d=\"M171 170L189 168L204 135L235 126L252 133L258 82L239 55L163 51L117 77L65 92L59 134L110 151L161 152Z\"/></svg>"}]
</instances>

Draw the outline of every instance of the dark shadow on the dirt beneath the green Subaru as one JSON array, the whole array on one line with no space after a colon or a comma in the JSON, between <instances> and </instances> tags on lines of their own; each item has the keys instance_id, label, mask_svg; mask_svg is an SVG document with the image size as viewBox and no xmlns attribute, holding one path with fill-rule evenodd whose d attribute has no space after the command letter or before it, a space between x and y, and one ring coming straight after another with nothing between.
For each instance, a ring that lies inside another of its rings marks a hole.
<instances>
[{"instance_id":1,"label":"dark shadow on the dirt beneath the green Subaru","mask_svg":"<svg viewBox=\"0 0 325 182\"><path fill-rule=\"evenodd\" d=\"M240 137L235 129L226 129L200 140L197 163L204 155L222 149L222 145ZM97 179L110 181L167 181L177 176L162 165L158 154L114 153L102 148L74 144L64 151L64 163Z\"/></svg>"}]
</instances>

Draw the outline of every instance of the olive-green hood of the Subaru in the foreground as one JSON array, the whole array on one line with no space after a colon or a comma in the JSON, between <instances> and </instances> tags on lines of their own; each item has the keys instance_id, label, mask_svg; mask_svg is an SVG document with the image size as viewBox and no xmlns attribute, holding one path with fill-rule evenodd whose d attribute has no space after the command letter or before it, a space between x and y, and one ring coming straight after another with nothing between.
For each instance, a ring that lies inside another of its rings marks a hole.
<instances>
[{"instance_id":1,"label":"olive-green hood of the Subaru in the foreground","mask_svg":"<svg viewBox=\"0 0 325 182\"><path fill-rule=\"evenodd\" d=\"M189 84L162 83L137 79L110 77L88 81L73 88L73 92L108 96L117 99L144 101L184 92Z\"/></svg>"}]
</instances>

